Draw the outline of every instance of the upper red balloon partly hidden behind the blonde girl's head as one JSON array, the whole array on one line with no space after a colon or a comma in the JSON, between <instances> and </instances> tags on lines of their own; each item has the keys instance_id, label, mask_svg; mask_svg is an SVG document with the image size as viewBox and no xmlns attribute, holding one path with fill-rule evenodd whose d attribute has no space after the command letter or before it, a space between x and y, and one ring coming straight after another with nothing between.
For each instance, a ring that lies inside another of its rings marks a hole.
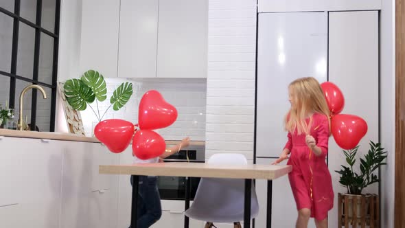
<instances>
[{"instance_id":1,"label":"upper red balloon partly hidden behind the blonde girl's head","mask_svg":"<svg viewBox=\"0 0 405 228\"><path fill-rule=\"evenodd\" d=\"M325 95L327 106L332 115L339 114L345 107L345 98L342 91L332 82L323 82L321 84L323 94Z\"/></svg>"}]
</instances>

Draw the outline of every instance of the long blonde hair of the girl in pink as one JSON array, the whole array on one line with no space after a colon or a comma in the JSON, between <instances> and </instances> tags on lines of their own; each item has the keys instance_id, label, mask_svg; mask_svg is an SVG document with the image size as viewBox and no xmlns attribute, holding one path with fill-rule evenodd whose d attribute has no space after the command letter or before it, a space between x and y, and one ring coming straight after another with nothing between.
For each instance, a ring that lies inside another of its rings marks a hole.
<instances>
[{"instance_id":1,"label":"long blonde hair of the girl in pink","mask_svg":"<svg viewBox=\"0 0 405 228\"><path fill-rule=\"evenodd\" d=\"M294 105L288 111L284 123L286 130L293 133L309 134L312 126L312 116L307 124L305 119L310 113L322 113L329 119L329 135L330 135L330 111L327 106L325 96L321 88L321 84L312 77L299 78L290 83L289 87L292 92L291 99Z\"/></svg>"}]
</instances>

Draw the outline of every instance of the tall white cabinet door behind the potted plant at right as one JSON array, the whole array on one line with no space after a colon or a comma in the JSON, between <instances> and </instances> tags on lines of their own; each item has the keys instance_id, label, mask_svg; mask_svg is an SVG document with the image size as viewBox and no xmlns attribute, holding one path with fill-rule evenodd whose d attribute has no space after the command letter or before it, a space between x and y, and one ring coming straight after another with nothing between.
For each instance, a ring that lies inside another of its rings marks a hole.
<instances>
[{"instance_id":1,"label":"tall white cabinet door behind the potted plant at right","mask_svg":"<svg viewBox=\"0 0 405 228\"><path fill-rule=\"evenodd\" d=\"M368 125L358 156L367 153L369 140L378 141L378 52L378 11L329 13L329 81L345 96L342 113L358 115ZM357 159L356 167L358 162ZM342 149L331 138L329 170L332 170L335 192L332 215L337 214L336 194L346 191L338 183L339 174L333 170L340 170L340 165L345 163ZM366 191L378 193L378 184L367 187ZM336 216L329 216L329 227L336 224Z\"/></svg>"}]
</instances>

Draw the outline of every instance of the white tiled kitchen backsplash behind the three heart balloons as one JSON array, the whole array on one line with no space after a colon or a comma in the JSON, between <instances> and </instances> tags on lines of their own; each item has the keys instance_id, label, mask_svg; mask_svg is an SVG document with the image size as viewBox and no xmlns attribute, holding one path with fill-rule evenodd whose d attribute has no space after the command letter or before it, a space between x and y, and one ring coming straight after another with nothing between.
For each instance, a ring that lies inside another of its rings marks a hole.
<instances>
[{"instance_id":1,"label":"white tiled kitchen backsplash behind the three heart balloons","mask_svg":"<svg viewBox=\"0 0 405 228\"><path fill-rule=\"evenodd\" d=\"M181 78L106 78L107 99L99 103L100 113L110 106L109 99L113 91L122 82L131 82L133 93L128 103L119 111L109 109L104 119L125 119L137 123L138 107L142 95L149 90L157 90L163 98L174 105L178 111L176 122L171 126L157 130L166 140L179 140L189 136L192 140L205 141L205 106L207 80ZM95 103L91 105L97 112ZM86 135L92 134L97 118L91 109L81 112ZM102 115L102 114L101 114Z\"/></svg>"}]
</instances>

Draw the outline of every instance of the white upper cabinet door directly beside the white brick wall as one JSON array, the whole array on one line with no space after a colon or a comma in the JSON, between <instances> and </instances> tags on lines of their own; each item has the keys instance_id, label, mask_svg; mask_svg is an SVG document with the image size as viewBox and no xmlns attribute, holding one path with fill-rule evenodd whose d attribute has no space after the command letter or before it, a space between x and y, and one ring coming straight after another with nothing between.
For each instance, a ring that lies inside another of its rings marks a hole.
<instances>
[{"instance_id":1,"label":"white upper cabinet door directly beside the white brick wall","mask_svg":"<svg viewBox=\"0 0 405 228\"><path fill-rule=\"evenodd\" d=\"M160 0L158 78L207 78L208 1Z\"/></svg>"}]
</instances>

